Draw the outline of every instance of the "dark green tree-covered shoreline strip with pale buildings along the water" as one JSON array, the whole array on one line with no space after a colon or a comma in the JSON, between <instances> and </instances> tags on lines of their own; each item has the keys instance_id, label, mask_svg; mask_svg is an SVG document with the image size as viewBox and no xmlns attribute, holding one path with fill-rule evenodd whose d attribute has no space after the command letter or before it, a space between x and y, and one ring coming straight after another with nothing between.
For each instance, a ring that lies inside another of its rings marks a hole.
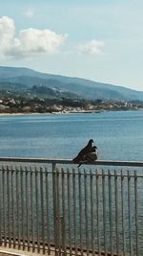
<instances>
[{"instance_id":1,"label":"dark green tree-covered shoreline strip with pale buildings along the water","mask_svg":"<svg viewBox=\"0 0 143 256\"><path fill-rule=\"evenodd\" d=\"M66 113L104 110L142 110L140 101L88 101L85 99L41 98L0 94L0 113Z\"/></svg>"}]
</instances>

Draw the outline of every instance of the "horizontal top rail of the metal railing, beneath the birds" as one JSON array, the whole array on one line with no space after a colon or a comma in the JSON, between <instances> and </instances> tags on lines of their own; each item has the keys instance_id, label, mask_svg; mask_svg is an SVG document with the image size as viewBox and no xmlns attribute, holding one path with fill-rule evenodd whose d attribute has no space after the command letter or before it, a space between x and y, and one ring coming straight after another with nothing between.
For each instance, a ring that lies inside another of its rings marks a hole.
<instances>
[{"instance_id":1,"label":"horizontal top rail of the metal railing, beneath the birds","mask_svg":"<svg viewBox=\"0 0 143 256\"><path fill-rule=\"evenodd\" d=\"M45 164L72 164L72 159L52 159L52 158L24 158L24 157L0 157L0 162L26 162L26 163L45 163ZM114 161L114 160L97 160L92 163L84 163L95 166L134 166L143 167L143 161Z\"/></svg>"}]
</instances>

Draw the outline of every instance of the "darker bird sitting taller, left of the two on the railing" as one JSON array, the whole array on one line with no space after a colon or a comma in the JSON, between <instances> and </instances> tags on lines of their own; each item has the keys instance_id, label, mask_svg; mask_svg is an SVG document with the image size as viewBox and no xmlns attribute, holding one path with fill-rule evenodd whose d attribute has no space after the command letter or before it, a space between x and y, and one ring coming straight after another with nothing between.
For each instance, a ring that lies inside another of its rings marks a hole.
<instances>
[{"instance_id":1,"label":"darker bird sitting taller, left of the two on the railing","mask_svg":"<svg viewBox=\"0 0 143 256\"><path fill-rule=\"evenodd\" d=\"M72 159L73 163L78 164L84 159L84 156L92 150L92 143L93 140L89 140L87 146L79 151L78 154Z\"/></svg>"}]
</instances>

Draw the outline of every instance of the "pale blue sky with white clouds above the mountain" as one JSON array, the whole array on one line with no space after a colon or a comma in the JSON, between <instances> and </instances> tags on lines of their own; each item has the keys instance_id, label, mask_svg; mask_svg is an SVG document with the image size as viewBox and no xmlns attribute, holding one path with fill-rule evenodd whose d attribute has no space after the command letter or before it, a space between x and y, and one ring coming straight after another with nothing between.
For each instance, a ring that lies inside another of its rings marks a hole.
<instances>
[{"instance_id":1,"label":"pale blue sky with white clouds above the mountain","mask_svg":"<svg viewBox=\"0 0 143 256\"><path fill-rule=\"evenodd\" d=\"M0 65L143 91L142 0L0 0Z\"/></svg>"}]
</instances>

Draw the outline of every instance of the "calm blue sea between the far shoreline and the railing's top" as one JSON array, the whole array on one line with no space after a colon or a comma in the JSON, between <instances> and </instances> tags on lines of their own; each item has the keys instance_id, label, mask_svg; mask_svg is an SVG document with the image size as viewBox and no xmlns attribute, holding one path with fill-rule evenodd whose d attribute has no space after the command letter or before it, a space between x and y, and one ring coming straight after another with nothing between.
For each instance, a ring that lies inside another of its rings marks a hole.
<instances>
[{"instance_id":1,"label":"calm blue sea between the far shoreline and the railing's top","mask_svg":"<svg viewBox=\"0 0 143 256\"><path fill-rule=\"evenodd\" d=\"M0 116L0 155L73 158L93 138L98 159L143 160L143 111Z\"/></svg>"}]
</instances>

